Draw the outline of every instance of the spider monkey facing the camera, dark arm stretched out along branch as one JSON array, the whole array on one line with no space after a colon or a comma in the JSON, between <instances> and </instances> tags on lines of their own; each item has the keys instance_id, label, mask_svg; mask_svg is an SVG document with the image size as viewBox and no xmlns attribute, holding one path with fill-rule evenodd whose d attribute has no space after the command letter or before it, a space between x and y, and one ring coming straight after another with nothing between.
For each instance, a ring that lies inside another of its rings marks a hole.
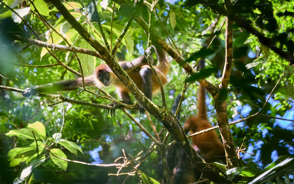
<instances>
[{"instance_id":1,"label":"spider monkey facing the camera, dark arm stretched out along branch","mask_svg":"<svg viewBox=\"0 0 294 184\"><path fill-rule=\"evenodd\" d=\"M169 63L166 57L166 53L161 47L156 49L154 46L147 48L145 52L150 52L151 48L154 48L159 61L158 66L154 66L154 68L158 73L162 84L165 85L167 83L166 75L169 71ZM150 66L148 66L147 59L144 55L133 59L132 61L121 61L119 64L128 73L136 86L148 99L152 100L152 95L160 91L160 83L158 82L156 75L153 73ZM121 102L128 105L133 104L128 88L126 88L126 86L117 78L117 76L106 64L98 65L91 76L84 77L84 83L85 86L116 86L116 93L121 99ZM30 95L43 92L73 91L82 86L83 82L82 78L80 77L74 80L50 83L41 86L35 86L34 88L26 88L22 95L24 97L29 97ZM117 103L110 103L109 105L113 106L113 109L110 110L111 116L112 114L115 116L115 108L121 105ZM139 105L139 111L141 114L143 114L145 109Z\"/></svg>"}]
</instances>

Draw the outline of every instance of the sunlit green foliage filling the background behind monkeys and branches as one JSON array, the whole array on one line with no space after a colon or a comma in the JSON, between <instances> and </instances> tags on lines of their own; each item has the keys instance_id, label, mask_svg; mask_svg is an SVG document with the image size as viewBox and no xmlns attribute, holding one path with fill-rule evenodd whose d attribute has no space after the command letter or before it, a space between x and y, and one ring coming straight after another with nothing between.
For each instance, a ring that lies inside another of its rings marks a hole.
<instances>
[{"instance_id":1,"label":"sunlit green foliage filling the background behind monkeys and branches","mask_svg":"<svg viewBox=\"0 0 294 184\"><path fill-rule=\"evenodd\" d=\"M5 0L0 3L1 86L25 89L77 77L72 70L81 71L73 50L55 50L51 47L46 50L45 46L26 40L29 38L95 50L64 18L63 12L56 9L51 1ZM136 15L131 17L130 27L116 53L118 61L130 61L141 56L147 48L148 33L138 21L143 19L148 24L149 9L155 2L144 1L137 8L136 3L80 0L63 4L94 39L105 45L95 18L97 8L103 33L111 48L132 13L138 9ZM208 68L206 79L217 86L222 80L226 56L226 28L223 23L227 16L233 15L234 58L226 98L228 121L242 120L263 109L257 116L230 125L235 147L239 151L245 149L238 152L242 158L238 169L227 170L226 174L234 182L234 178L238 178L235 175L243 176L239 181L249 181L252 179L250 177L279 157L283 156L280 160L285 160L294 154L294 1L238 0L231 1L226 9L229 13L225 11L224 2L216 0L197 3L159 1L151 13L150 30L178 50L191 66L204 58ZM90 75L96 66L105 63L87 54L87 51L78 52L77 56L84 76ZM72 70L62 66L56 58ZM167 107L171 110L174 99L182 94L187 82L185 80L190 75L171 56L169 59L169 82L164 90ZM198 79L192 76L189 80L179 117L182 124L198 112ZM149 114L141 115L138 110L128 110L153 137L158 133L164 145L156 145L121 110L116 110L116 116L111 117L104 109L62 102L59 97L23 98L20 91L12 88L0 89L0 183L11 183L13 180L15 183L156 183L155 180L164 180L161 156L163 148L173 139L170 135L165 137L166 129L153 116L149 118ZM103 95L97 88L88 89ZM116 98L114 87L104 90ZM110 103L86 91L77 94L78 91L61 94L81 102ZM267 98L269 100L266 103ZM132 100L136 101L133 97ZM153 96L152 102L162 106L160 93ZM209 93L206 104L208 119L216 126L215 102ZM151 120L157 133L153 131ZM164 139L167 139L166 142ZM36 146L39 147L37 150ZM174 155L168 156L177 159ZM105 167L85 164L118 164L127 161L125 157L131 162L121 170L118 165ZM68 162L67 159L80 163ZM29 172L24 172L25 168ZM223 166L222 169L225 172L227 168ZM293 166L288 169L290 171L282 172L282 176L293 173ZM279 176L267 179L279 182L276 179ZM282 176L281 181L288 181L287 176ZM266 180L262 178L259 181Z\"/></svg>"}]
</instances>

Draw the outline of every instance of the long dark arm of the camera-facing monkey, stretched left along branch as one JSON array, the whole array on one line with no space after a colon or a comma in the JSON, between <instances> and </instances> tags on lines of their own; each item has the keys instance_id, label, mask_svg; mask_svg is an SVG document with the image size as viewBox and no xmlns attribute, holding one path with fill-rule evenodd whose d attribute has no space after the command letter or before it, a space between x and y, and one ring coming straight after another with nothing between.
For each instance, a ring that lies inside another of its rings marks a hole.
<instances>
[{"instance_id":1,"label":"long dark arm of the camera-facing monkey, stretched left along branch","mask_svg":"<svg viewBox=\"0 0 294 184\"><path fill-rule=\"evenodd\" d=\"M85 86L95 86L93 76L84 77ZM34 88L26 88L22 93L24 97L35 95L36 93L55 92L55 91L74 91L78 87L83 87L82 78L69 81L61 81L56 83L35 86Z\"/></svg>"}]
</instances>

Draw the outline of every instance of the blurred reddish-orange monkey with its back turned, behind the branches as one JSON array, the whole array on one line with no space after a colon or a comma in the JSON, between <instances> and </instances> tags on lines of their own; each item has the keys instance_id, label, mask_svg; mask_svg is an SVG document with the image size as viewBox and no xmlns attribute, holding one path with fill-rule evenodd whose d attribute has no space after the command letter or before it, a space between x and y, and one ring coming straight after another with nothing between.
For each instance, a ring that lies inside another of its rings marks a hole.
<instances>
[{"instance_id":1,"label":"blurred reddish-orange monkey with its back turned, behind the branches","mask_svg":"<svg viewBox=\"0 0 294 184\"><path fill-rule=\"evenodd\" d=\"M199 68L204 68L205 61L202 59L199 63ZM199 84L198 100L198 115L191 116L184 124L183 129L185 133L196 133L207 128L212 128L208 122L206 103L205 103L205 88ZM216 131L209 131L201 135L192 137L193 145L199 148L203 159L208 162L215 162L222 160L225 162L225 148L223 143L218 138Z\"/></svg>"}]
</instances>

